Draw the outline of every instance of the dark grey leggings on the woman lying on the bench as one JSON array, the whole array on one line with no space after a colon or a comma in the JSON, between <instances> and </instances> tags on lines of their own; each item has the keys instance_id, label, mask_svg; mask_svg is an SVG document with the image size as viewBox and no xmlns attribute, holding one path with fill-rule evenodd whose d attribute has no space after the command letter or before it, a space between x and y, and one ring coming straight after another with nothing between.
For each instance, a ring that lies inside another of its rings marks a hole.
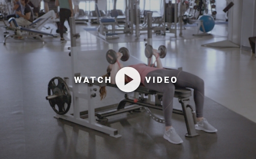
<instances>
[{"instance_id":1,"label":"dark grey leggings on the woman lying on the bench","mask_svg":"<svg viewBox=\"0 0 256 159\"><path fill-rule=\"evenodd\" d=\"M205 97L205 86L204 80L187 72L179 71L179 70L165 70L159 69L152 71L147 74L147 77L151 77L149 83L147 83L146 79L144 81L144 85L148 89L156 90L163 93L162 97L162 105L163 105L163 116L165 119L165 126L172 125L172 113L173 113L173 97L175 93L175 87L189 87L194 89L194 101L195 101L195 109L196 109L196 117L203 117L203 107L204 107L204 97ZM177 82L172 83L153 83L152 77L176 77Z\"/></svg>"}]
</instances>

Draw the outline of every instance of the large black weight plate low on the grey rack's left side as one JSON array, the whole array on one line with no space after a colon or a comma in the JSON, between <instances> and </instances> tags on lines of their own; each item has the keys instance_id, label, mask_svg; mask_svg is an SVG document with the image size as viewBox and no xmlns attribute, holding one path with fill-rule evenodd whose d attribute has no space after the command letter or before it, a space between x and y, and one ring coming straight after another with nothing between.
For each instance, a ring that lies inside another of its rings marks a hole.
<instances>
[{"instance_id":1,"label":"large black weight plate low on the grey rack's left side","mask_svg":"<svg viewBox=\"0 0 256 159\"><path fill-rule=\"evenodd\" d=\"M57 85L54 82L55 79L58 80ZM58 95L58 97L49 100L51 108L57 114L66 114L70 109L71 94L67 83L61 77L54 77L49 81L48 96L52 95ZM66 107L65 104L67 104ZM56 109L56 105L58 106L58 109Z\"/></svg>"}]
</instances>

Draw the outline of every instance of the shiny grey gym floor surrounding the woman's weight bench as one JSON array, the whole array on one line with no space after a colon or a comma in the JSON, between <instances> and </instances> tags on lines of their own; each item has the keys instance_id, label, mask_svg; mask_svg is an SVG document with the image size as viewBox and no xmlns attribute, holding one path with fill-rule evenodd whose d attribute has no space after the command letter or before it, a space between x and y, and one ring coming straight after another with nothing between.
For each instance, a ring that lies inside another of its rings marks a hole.
<instances>
[{"instance_id":1,"label":"shiny grey gym floor surrounding the woman's weight bench","mask_svg":"<svg viewBox=\"0 0 256 159\"><path fill-rule=\"evenodd\" d=\"M77 43L84 56L87 50L101 52L127 46L131 55L147 60L145 42L134 42L134 35L121 35L126 43L119 43L119 39L110 43L84 30L94 27L76 25L81 35ZM201 46L226 40L226 29L226 25L215 25L212 36L193 38L196 30L191 27L178 40L172 34L153 37L153 47L165 45L168 50L162 59L164 66L183 67L183 71L205 80L205 117L218 129L216 134L198 131L200 136L186 138L184 118L174 114L174 128L184 140L181 145L165 141L164 124L145 112L110 118L108 125L122 135L117 139L53 118L54 112L45 100L47 84L55 76L72 77L69 34L65 44L49 39L46 44L15 40L0 45L0 158L256 158L256 58L239 48ZM94 67L106 69L101 63ZM117 103L123 97L116 89L108 92L98 107ZM179 106L177 101L175 105Z\"/></svg>"}]
</instances>

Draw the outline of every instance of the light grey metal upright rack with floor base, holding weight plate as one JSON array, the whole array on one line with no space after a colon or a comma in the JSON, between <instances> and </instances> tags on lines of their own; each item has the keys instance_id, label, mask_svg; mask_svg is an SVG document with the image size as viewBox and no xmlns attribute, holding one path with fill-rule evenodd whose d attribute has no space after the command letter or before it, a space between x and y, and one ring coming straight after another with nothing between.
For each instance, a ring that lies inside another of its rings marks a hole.
<instances>
[{"instance_id":1,"label":"light grey metal upright rack with floor base, holding weight plate","mask_svg":"<svg viewBox=\"0 0 256 159\"><path fill-rule=\"evenodd\" d=\"M72 66L72 76L77 76L78 66L78 47L76 47L76 29L75 29L75 18L70 17L70 36L71 36L71 66ZM66 78L67 80L67 78ZM68 80L67 80L68 82ZM97 84L95 81L94 84ZM104 86L105 83L98 83L98 86ZM97 131L100 131L102 133L108 134L111 137L121 137L121 135L118 134L118 131L116 129L110 128L108 126L101 125L99 123L96 123L95 118L95 108L94 108L94 96L89 95L95 93L95 90L92 88L92 84L88 84L87 87L87 93L79 92L78 84L75 83L74 80L72 80L72 86L69 85L70 91L72 91L72 105L74 108L73 114L65 114L65 115L59 115L56 114L55 118L61 118L67 121L71 121L74 123L77 123L82 126L86 126L90 129L94 129ZM82 119L80 117L80 108L79 108L79 98L88 100L88 118Z\"/></svg>"}]
</instances>

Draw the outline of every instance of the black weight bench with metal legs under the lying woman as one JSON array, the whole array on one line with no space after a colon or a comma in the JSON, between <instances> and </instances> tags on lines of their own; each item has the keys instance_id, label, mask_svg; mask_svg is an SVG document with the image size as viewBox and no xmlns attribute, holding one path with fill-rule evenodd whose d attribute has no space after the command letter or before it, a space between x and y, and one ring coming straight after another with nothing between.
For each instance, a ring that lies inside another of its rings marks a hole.
<instances>
[{"instance_id":1,"label":"black weight bench with metal legs under the lying woman","mask_svg":"<svg viewBox=\"0 0 256 159\"><path fill-rule=\"evenodd\" d=\"M107 83L106 86L118 88L117 85L115 85L115 84ZM149 101L149 99L145 98L145 96L144 96L145 94L146 95L155 95L154 103ZM150 89L146 88L145 86L140 85L134 91L134 97L133 97L135 99L138 99L138 101L134 101L133 99L130 99L128 94L125 94L125 99L123 99L118 104L117 109L112 110L112 111L108 110L106 112L100 112L100 113L97 113L96 116L98 117L98 121L106 122L107 116L116 115L116 114L120 114L120 113L124 113L124 112L129 112L131 110L136 110L136 109L138 109L138 107L136 105L139 105L139 106L144 106L147 113L151 116L152 119L154 119L157 122L164 123L164 119L158 118L153 113L151 113L151 111L149 109L149 108L153 108L153 109L162 110L162 104L161 104L162 96L163 96L163 94L161 92L150 90ZM174 108L173 112L177 113L177 114L184 115L186 126L187 126L187 131L188 131L188 133L185 136L194 137L199 134L196 133L196 131L195 131L196 114L195 114L195 111L193 110L193 108L189 105L189 97L190 96L191 96L190 89L186 89L186 88L175 89L174 97L179 99L179 102L182 105L182 110ZM134 109L132 109L132 107L130 107L130 106L128 106L126 108L127 103L135 105Z\"/></svg>"}]
</instances>

